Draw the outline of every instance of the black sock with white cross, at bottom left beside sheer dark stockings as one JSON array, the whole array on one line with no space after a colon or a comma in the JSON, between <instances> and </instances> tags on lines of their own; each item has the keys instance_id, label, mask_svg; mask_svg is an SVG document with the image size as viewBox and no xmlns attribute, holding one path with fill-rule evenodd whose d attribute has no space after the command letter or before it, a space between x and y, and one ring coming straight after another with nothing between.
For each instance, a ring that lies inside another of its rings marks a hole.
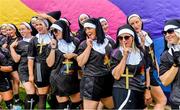
<instances>
[{"instance_id":1,"label":"black sock with white cross, at bottom left beside sheer dark stockings","mask_svg":"<svg viewBox=\"0 0 180 110\"><path fill-rule=\"evenodd\" d=\"M24 109L32 110L35 106L35 94L27 94L24 104Z\"/></svg>"}]
</instances>

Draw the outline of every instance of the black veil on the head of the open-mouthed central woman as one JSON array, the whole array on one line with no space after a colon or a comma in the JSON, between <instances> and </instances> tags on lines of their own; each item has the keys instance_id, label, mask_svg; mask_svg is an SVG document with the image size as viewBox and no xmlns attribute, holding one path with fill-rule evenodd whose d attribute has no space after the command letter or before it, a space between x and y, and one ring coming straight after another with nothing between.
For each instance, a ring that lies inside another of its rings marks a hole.
<instances>
[{"instance_id":1,"label":"black veil on the head of the open-mouthed central woman","mask_svg":"<svg viewBox=\"0 0 180 110\"><path fill-rule=\"evenodd\" d=\"M96 37L97 37L97 43L104 43L104 39L105 39L105 34L104 31L102 29L101 23L99 22L99 19L96 18L90 18L88 20L85 21L85 23L92 23L94 25L96 25ZM86 33L85 33L86 35Z\"/></svg>"}]
</instances>

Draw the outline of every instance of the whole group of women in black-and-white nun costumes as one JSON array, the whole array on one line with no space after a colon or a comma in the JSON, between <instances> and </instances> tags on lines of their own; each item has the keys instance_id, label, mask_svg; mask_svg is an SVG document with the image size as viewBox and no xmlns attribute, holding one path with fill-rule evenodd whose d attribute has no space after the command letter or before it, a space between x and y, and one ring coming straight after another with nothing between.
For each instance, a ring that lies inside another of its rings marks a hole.
<instances>
[{"instance_id":1,"label":"whole group of women in black-and-white nun costumes","mask_svg":"<svg viewBox=\"0 0 180 110\"><path fill-rule=\"evenodd\" d=\"M19 82L27 94L24 109L46 109L46 101L51 109L145 109L152 101L164 109L160 81L172 84L171 107L180 107L180 20L165 23L159 66L139 15L128 16L113 40L104 17L81 14L72 32L70 22L53 13L20 23L19 31L13 24L0 28L0 94L8 109L21 102Z\"/></svg>"}]
</instances>

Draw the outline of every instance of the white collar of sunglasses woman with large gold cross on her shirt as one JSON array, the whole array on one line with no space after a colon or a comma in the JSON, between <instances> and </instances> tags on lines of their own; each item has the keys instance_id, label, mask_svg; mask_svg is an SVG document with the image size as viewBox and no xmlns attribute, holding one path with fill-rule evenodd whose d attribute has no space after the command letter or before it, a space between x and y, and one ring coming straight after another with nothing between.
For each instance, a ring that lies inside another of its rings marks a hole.
<instances>
[{"instance_id":1,"label":"white collar of sunglasses woman with large gold cross on her shirt","mask_svg":"<svg viewBox=\"0 0 180 110\"><path fill-rule=\"evenodd\" d=\"M121 46L119 47L119 50L121 51L122 56L123 56L123 48ZM132 50L128 54L128 58L126 60L126 64L138 65L141 60L142 60L142 57L141 57L140 51L139 50L138 51Z\"/></svg>"}]
</instances>

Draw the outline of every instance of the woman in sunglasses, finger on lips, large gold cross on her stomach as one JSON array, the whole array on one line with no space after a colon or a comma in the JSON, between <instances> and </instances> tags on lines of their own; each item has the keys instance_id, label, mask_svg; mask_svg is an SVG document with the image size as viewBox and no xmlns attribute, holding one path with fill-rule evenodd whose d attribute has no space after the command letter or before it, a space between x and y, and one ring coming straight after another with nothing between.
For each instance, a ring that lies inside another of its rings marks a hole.
<instances>
[{"instance_id":1,"label":"woman in sunglasses, finger on lips, large gold cross on her stomach","mask_svg":"<svg viewBox=\"0 0 180 110\"><path fill-rule=\"evenodd\" d=\"M111 55L115 109L145 108L145 69L145 55L138 48L136 32L128 24L121 26Z\"/></svg>"}]
</instances>

